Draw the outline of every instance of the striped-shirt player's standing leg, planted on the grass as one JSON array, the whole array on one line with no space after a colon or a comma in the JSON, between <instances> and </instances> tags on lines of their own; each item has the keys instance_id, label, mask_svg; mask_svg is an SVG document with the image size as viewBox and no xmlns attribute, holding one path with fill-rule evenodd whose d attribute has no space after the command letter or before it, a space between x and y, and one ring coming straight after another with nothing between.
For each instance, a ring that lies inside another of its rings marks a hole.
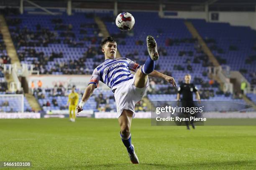
<instances>
[{"instance_id":1,"label":"striped-shirt player's standing leg, planted on the grass","mask_svg":"<svg viewBox=\"0 0 256 170\"><path fill-rule=\"evenodd\" d=\"M131 143L131 121L133 117L133 112L131 110L123 110L122 114L118 118L118 122L121 128L120 136L123 141L123 144L127 148L128 155L133 164L139 163L138 157L134 151L134 146Z\"/></svg>"}]
</instances>

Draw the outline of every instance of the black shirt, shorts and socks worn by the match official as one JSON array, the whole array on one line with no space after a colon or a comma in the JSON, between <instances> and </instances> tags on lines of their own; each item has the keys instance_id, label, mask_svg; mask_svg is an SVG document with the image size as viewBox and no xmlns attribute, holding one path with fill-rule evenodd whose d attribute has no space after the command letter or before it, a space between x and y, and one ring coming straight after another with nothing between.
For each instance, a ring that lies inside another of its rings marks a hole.
<instances>
[{"instance_id":1,"label":"black shirt, shorts and socks worn by the match official","mask_svg":"<svg viewBox=\"0 0 256 170\"><path fill-rule=\"evenodd\" d=\"M197 87L193 83L182 83L178 89L178 93L182 95L181 102L182 107L195 107L193 102L193 92L197 92ZM194 116L190 113L184 112L185 117ZM191 124L193 125L193 121L191 121ZM189 122L186 121L187 127L189 126ZM189 128L189 127L188 127ZM194 128L194 125L193 125Z\"/></svg>"}]
</instances>

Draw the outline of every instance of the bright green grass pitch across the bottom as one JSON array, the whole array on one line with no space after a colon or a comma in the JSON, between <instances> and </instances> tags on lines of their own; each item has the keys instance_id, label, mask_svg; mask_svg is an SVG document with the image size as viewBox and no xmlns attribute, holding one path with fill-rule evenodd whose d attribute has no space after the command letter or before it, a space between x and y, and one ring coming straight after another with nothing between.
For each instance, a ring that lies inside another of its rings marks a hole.
<instances>
[{"instance_id":1,"label":"bright green grass pitch across the bottom","mask_svg":"<svg viewBox=\"0 0 256 170\"><path fill-rule=\"evenodd\" d=\"M23 170L256 169L256 126L186 130L134 119L131 134L138 165L130 163L117 119L0 120L0 161L30 161Z\"/></svg>"}]
</instances>

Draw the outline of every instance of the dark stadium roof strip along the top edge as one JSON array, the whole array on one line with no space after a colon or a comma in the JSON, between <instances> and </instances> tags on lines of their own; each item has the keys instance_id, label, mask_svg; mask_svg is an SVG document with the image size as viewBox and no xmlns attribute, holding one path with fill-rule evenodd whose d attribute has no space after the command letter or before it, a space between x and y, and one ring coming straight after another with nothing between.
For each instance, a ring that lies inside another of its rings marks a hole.
<instances>
[{"instance_id":1,"label":"dark stadium roof strip along the top edge","mask_svg":"<svg viewBox=\"0 0 256 170\"><path fill-rule=\"evenodd\" d=\"M43 7L67 7L67 0L31 0ZM208 4L209 11L256 11L256 0L72 0L72 7L113 9L114 2L118 9L159 10L159 5L165 5L164 10L203 11ZM0 6L20 5L20 0L0 0ZM24 6L31 6L24 0Z\"/></svg>"}]
</instances>

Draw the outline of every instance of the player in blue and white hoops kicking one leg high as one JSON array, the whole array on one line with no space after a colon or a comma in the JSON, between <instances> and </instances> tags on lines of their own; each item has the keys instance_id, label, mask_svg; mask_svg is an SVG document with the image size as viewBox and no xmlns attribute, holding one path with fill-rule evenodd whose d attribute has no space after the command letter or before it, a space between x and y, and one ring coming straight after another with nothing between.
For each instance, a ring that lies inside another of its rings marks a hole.
<instances>
[{"instance_id":1,"label":"player in blue and white hoops kicking one leg high","mask_svg":"<svg viewBox=\"0 0 256 170\"><path fill-rule=\"evenodd\" d=\"M84 90L82 100L77 106L77 112L80 112L84 103L92 95L93 90L97 88L99 81L111 88L115 96L120 137L133 164L139 163L139 160L131 143L131 121L135 116L134 108L136 102L146 95L149 84L148 76L163 78L172 83L173 86L176 86L173 77L154 70L155 61L159 58L156 41L150 35L147 36L146 41L149 57L141 66L125 57L115 58L117 43L113 37L105 38L101 43L105 62L97 66L93 71L90 83ZM135 75L131 71L136 72Z\"/></svg>"}]
</instances>

